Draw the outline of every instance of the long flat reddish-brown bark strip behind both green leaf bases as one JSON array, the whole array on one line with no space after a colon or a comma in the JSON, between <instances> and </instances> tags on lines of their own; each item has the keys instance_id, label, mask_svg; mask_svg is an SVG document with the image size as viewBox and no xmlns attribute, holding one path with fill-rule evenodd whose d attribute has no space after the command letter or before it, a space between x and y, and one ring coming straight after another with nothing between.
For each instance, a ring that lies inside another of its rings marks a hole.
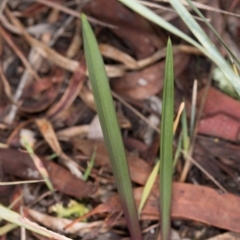
<instances>
[{"instance_id":1,"label":"long flat reddish-brown bark strip behind both green leaf bases","mask_svg":"<svg viewBox=\"0 0 240 240\"><path fill-rule=\"evenodd\" d=\"M143 188L134 189L138 205ZM102 212L120 212L119 196L115 195L93 209L93 214ZM218 228L240 232L240 197L233 194L221 194L217 190L186 183L173 184L172 212L173 218L199 221ZM152 190L142 211L141 219L158 220L159 191L158 186Z\"/></svg>"}]
</instances>

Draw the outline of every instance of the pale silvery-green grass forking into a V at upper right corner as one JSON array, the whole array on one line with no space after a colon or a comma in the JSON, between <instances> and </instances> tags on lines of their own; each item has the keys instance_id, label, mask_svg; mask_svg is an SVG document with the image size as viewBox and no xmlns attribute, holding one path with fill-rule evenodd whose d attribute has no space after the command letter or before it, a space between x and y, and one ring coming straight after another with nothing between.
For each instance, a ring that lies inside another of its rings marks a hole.
<instances>
[{"instance_id":1,"label":"pale silvery-green grass forking into a V at upper right corner","mask_svg":"<svg viewBox=\"0 0 240 240\"><path fill-rule=\"evenodd\" d=\"M185 33L181 32L179 29L174 27L169 22L165 21L163 18L158 16L156 13L151 11L149 8L141 5L136 0L119 0L124 5L131 8L133 11L139 13L140 15L144 16L148 20L156 23L158 26L166 29L167 31L177 35L178 37L184 39L188 43L192 44L193 46L197 47L202 53L204 53L209 59L211 59L224 73L227 79L233 84L234 88L240 95L240 79L236 74L233 72L232 68L229 64L225 61L219 51L214 47L211 43L209 38L206 36L204 31L192 17L192 15L187 11L187 9L183 6L181 1L179 0L169 0L171 5L175 8L178 15L182 18L182 20L186 23L189 29L193 32L193 34L197 37L199 44L192 38L190 38Z\"/></svg>"}]
</instances>

